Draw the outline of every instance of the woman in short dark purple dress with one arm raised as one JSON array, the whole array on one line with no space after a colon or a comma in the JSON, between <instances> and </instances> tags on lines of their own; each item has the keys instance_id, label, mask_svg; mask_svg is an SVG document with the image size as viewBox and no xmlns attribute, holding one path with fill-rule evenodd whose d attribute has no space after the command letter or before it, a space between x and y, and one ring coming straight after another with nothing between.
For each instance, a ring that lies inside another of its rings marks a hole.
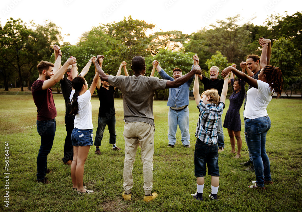
<instances>
[{"instance_id":1,"label":"woman in short dark purple dress with one arm raised","mask_svg":"<svg viewBox=\"0 0 302 212\"><path fill-rule=\"evenodd\" d=\"M241 120L239 110L242 106L245 92L245 82L240 79L234 80L234 75L231 73L231 85L233 89L233 93L230 96L230 106L226 112L226 117L224 119L223 127L227 128L227 131L230 136L230 142L232 146L232 150L230 153L236 153L235 151L235 138L237 140L237 154L235 158L241 157Z\"/></svg>"}]
</instances>

